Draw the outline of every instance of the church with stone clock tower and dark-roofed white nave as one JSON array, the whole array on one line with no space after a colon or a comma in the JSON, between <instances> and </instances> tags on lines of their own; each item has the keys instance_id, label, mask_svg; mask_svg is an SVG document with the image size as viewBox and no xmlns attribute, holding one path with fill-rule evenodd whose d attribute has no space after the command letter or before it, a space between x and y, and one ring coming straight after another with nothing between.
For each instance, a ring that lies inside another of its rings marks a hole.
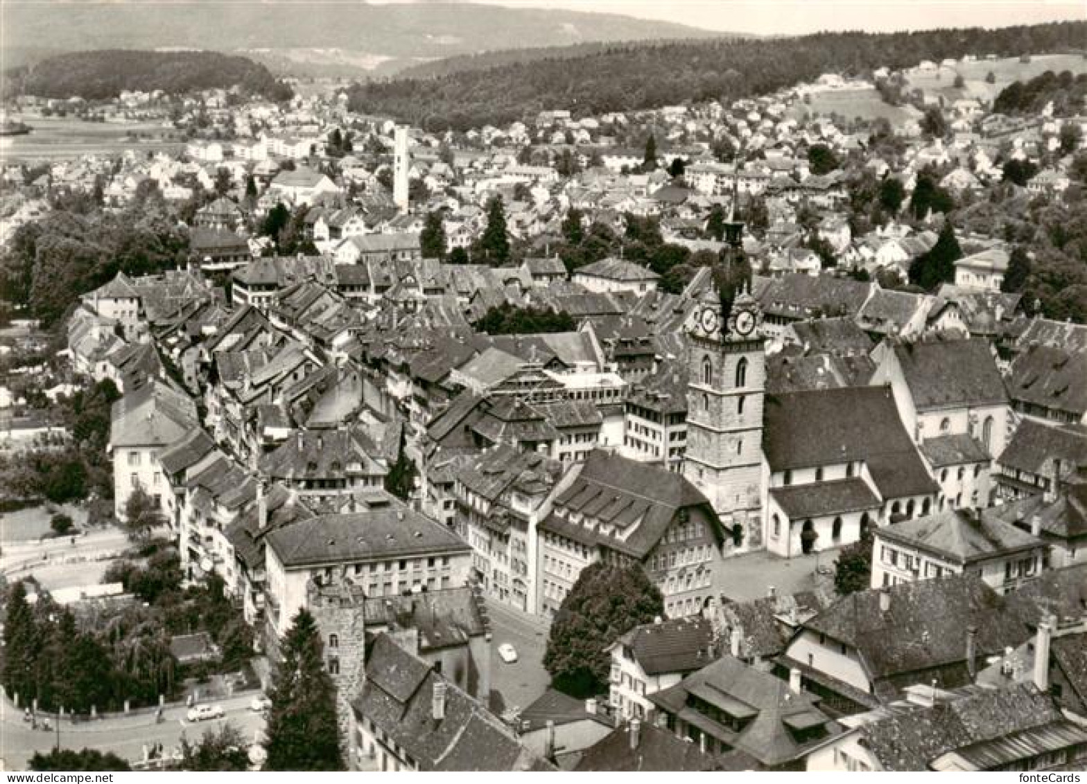
<instances>
[{"instance_id":1,"label":"church with stone clock tower and dark-roofed white nave","mask_svg":"<svg viewBox=\"0 0 1087 784\"><path fill-rule=\"evenodd\" d=\"M741 229L726 224L727 264L741 263ZM766 395L763 313L749 284L735 285L725 298L710 287L684 327L683 475L732 534L732 552L792 558L935 509L939 487L889 387Z\"/></svg>"}]
</instances>

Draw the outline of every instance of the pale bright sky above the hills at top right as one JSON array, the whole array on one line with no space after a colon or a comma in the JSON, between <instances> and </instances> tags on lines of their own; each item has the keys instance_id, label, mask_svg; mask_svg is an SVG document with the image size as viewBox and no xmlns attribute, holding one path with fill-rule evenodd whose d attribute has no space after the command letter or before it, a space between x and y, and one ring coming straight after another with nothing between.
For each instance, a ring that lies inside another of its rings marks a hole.
<instances>
[{"instance_id":1,"label":"pale bright sky above the hills at top right","mask_svg":"<svg viewBox=\"0 0 1087 784\"><path fill-rule=\"evenodd\" d=\"M1067 0L473 0L511 8L603 11L712 30L794 35L825 29L887 32L1005 27L1087 20Z\"/></svg>"}]
</instances>

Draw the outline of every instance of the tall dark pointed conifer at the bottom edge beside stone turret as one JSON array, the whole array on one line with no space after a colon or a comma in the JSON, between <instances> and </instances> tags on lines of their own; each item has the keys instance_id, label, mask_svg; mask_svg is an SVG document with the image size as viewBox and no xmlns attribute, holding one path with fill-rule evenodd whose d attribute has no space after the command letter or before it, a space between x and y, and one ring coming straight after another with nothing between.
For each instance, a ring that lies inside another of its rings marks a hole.
<instances>
[{"instance_id":1,"label":"tall dark pointed conifer at the bottom edge beside stone turret","mask_svg":"<svg viewBox=\"0 0 1087 784\"><path fill-rule=\"evenodd\" d=\"M280 646L267 722L265 770L342 770L336 686L313 615L301 609Z\"/></svg>"}]
</instances>

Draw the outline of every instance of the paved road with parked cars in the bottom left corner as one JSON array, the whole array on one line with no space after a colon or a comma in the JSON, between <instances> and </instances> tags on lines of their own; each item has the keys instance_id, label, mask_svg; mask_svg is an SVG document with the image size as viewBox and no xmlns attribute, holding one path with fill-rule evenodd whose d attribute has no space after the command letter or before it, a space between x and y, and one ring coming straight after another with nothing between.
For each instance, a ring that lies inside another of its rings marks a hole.
<instances>
[{"instance_id":1,"label":"paved road with parked cars in the bottom left corner","mask_svg":"<svg viewBox=\"0 0 1087 784\"><path fill-rule=\"evenodd\" d=\"M215 705L223 706L226 718L196 724L186 721L184 706L167 706L161 724L155 722L153 713L77 724L64 720L61 722L61 746L97 748L138 761L143 758L145 745L151 747L161 743L168 750L180 743L183 735L189 742L197 742L207 730L217 730L224 722L234 724L242 737L251 742L255 733L264 729L264 718L249 710L253 694L216 701ZM50 721L55 724L55 719ZM55 726L53 732L32 730L14 705L7 699L0 702L0 758L5 770L25 770L35 751L49 751L55 743Z\"/></svg>"}]
</instances>

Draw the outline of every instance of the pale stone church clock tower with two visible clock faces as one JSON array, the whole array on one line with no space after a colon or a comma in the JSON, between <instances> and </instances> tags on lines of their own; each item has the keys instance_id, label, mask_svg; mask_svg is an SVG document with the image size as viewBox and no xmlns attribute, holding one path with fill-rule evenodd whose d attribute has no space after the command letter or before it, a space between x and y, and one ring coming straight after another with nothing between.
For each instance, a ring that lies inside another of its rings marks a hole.
<instances>
[{"instance_id":1,"label":"pale stone church clock tower with two visible clock faces","mask_svg":"<svg viewBox=\"0 0 1087 784\"><path fill-rule=\"evenodd\" d=\"M684 476L713 503L734 544L759 547L766 378L762 311L740 289L724 313L710 287L684 332L689 371Z\"/></svg>"}]
</instances>

